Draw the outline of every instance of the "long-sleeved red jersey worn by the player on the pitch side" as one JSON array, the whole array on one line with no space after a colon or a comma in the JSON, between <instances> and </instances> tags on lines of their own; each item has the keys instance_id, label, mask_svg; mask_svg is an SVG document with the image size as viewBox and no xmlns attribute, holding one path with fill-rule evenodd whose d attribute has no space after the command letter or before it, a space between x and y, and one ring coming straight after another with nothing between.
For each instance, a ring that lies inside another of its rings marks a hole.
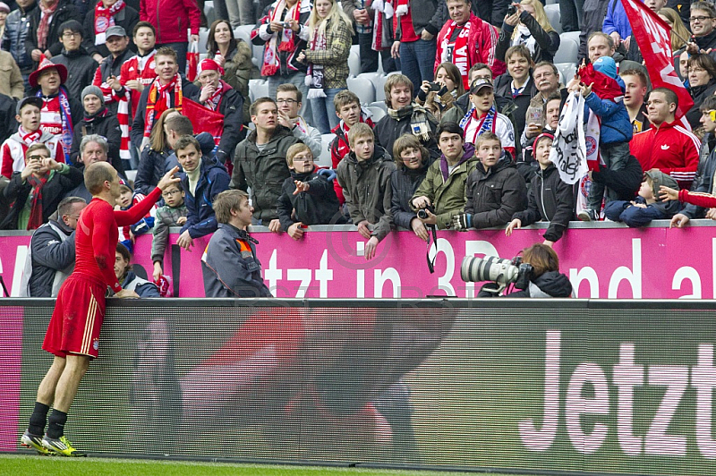
<instances>
[{"instance_id":1,"label":"long-sleeved red jersey worn by the player on the pitch side","mask_svg":"<svg viewBox=\"0 0 716 476\"><path fill-rule=\"evenodd\" d=\"M75 234L76 260L74 272L105 283L115 293L122 290L115 276L115 249L119 232L117 226L133 225L147 214L161 197L155 188L146 200L126 211L115 211L105 200L92 199L82 210Z\"/></svg>"}]
</instances>

